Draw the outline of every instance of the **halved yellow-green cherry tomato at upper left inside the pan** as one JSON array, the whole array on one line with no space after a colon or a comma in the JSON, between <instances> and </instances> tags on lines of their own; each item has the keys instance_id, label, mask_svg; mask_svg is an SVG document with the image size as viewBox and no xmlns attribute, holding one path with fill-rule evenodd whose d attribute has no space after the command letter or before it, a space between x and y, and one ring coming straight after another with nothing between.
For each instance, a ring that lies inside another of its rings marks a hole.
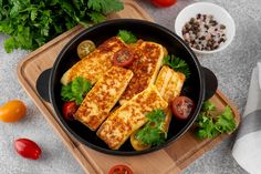
<instances>
[{"instance_id":1,"label":"halved yellow-green cherry tomato at upper left inside the pan","mask_svg":"<svg viewBox=\"0 0 261 174\"><path fill-rule=\"evenodd\" d=\"M85 58L87 54L95 50L95 44L91 40L84 40L77 45L77 55L80 59Z\"/></svg>"}]
</instances>

